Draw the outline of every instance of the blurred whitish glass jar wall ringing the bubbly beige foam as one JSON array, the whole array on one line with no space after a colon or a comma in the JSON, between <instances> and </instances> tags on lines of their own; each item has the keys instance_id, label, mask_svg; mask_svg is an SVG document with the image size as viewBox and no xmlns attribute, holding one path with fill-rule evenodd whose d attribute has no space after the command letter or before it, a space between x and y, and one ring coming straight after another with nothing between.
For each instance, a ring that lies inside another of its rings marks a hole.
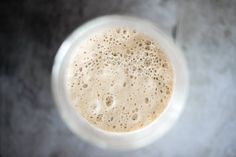
<instances>
[{"instance_id":1,"label":"blurred whitish glass jar wall ringing the bubbly beige foam","mask_svg":"<svg viewBox=\"0 0 236 157\"><path fill-rule=\"evenodd\" d=\"M148 126L127 133L107 132L91 126L73 111L65 91L65 72L73 47L84 37L103 27L132 27L160 43L174 69L173 94L159 118ZM129 150L145 146L162 137L181 114L188 91L188 71L185 58L174 42L148 21L128 16L108 15L93 19L78 27L61 45L52 70L52 92L60 115L68 127L82 139L102 148Z\"/></svg>"}]
</instances>

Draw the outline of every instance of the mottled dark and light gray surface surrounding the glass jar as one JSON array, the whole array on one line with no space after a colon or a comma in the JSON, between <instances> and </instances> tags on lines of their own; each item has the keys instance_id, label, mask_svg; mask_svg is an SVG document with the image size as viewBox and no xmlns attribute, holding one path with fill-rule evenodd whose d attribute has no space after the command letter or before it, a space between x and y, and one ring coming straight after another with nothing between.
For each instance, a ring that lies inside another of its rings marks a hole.
<instances>
[{"instance_id":1,"label":"mottled dark and light gray surface surrounding the glass jar","mask_svg":"<svg viewBox=\"0 0 236 157\"><path fill-rule=\"evenodd\" d=\"M101 150L61 120L50 90L53 59L83 22L128 14L157 23L184 50L190 90L178 122L130 152ZM0 157L236 156L236 1L22 0L0 2Z\"/></svg>"}]
</instances>

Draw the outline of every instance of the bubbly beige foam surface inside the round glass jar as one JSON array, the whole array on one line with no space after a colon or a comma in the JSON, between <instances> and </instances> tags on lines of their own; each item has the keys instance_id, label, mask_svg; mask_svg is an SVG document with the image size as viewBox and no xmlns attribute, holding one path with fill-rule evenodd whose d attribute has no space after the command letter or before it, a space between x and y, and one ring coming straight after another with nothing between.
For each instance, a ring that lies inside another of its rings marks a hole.
<instances>
[{"instance_id":1,"label":"bubbly beige foam surface inside the round glass jar","mask_svg":"<svg viewBox=\"0 0 236 157\"><path fill-rule=\"evenodd\" d=\"M158 41L131 28L107 28L78 43L67 68L73 108L113 132L143 128L166 108L173 69Z\"/></svg>"}]
</instances>

